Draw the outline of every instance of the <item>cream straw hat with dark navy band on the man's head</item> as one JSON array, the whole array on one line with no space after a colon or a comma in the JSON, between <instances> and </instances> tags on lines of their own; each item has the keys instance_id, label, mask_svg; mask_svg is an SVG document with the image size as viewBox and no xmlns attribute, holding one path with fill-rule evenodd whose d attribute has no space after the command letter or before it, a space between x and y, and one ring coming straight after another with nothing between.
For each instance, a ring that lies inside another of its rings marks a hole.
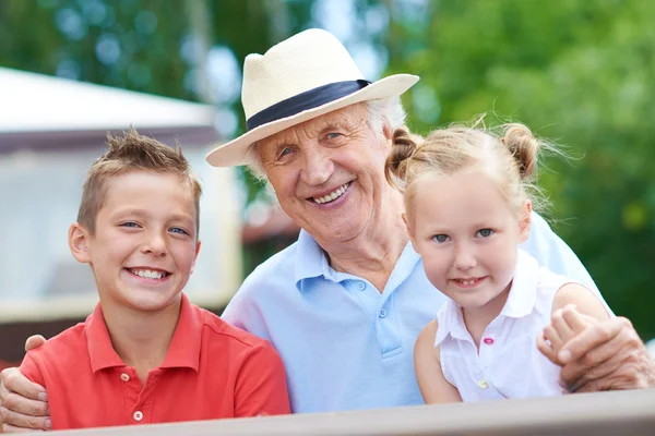
<instances>
[{"instance_id":1,"label":"cream straw hat with dark navy band on the man's head","mask_svg":"<svg viewBox=\"0 0 655 436\"><path fill-rule=\"evenodd\" d=\"M206 156L214 167L248 165L251 145L312 118L360 101L398 96L418 76L395 74L369 82L345 47L318 28L301 32L243 63L241 102L248 132Z\"/></svg>"}]
</instances>

